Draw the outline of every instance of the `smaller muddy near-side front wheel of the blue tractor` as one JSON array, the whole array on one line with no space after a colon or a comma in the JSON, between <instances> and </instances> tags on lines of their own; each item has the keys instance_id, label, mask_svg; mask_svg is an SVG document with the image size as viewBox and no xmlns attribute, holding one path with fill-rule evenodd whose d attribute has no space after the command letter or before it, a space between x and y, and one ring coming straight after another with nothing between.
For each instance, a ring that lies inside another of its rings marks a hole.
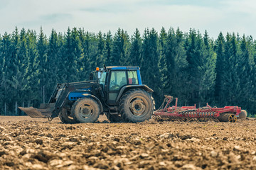
<instances>
[{"instance_id":1,"label":"smaller muddy near-side front wheel of the blue tractor","mask_svg":"<svg viewBox=\"0 0 256 170\"><path fill-rule=\"evenodd\" d=\"M94 123L100 115L100 106L92 98L80 98L71 108L74 119L79 123Z\"/></svg>"}]
</instances>

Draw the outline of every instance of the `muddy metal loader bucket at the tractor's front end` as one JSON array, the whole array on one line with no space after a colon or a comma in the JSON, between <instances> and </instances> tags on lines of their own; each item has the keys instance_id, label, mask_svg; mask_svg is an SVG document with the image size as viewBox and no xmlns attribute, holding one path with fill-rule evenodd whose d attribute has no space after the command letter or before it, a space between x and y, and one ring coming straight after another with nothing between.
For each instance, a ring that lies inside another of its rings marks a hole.
<instances>
[{"instance_id":1,"label":"muddy metal loader bucket at the tractor's front end","mask_svg":"<svg viewBox=\"0 0 256 170\"><path fill-rule=\"evenodd\" d=\"M22 108L21 111L25 112L27 115L29 115L31 118L48 118L50 115L52 115L52 111L54 109L54 103L50 104L41 104L40 108Z\"/></svg>"}]
</instances>

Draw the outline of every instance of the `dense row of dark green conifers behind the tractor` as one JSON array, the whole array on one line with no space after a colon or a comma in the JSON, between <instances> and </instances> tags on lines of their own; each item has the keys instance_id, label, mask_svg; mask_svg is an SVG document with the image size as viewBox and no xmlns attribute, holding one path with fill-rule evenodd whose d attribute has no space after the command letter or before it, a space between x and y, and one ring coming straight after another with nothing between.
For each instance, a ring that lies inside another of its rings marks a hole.
<instances>
[{"instance_id":1,"label":"dense row of dark green conifers behind the tractor","mask_svg":"<svg viewBox=\"0 0 256 170\"><path fill-rule=\"evenodd\" d=\"M134 30L128 35L68 28L50 35L18 30L0 35L0 115L24 115L18 106L47 103L57 83L89 80L96 67L139 66L142 83L178 106L240 106L256 113L256 40L237 33L179 28Z\"/></svg>"}]
</instances>

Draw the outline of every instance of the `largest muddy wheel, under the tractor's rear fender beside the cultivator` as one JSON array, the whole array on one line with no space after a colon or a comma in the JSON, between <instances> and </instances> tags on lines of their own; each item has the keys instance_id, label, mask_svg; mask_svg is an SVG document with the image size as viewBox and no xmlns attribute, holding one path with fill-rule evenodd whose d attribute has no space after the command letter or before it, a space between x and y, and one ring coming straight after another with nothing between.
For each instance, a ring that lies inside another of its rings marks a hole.
<instances>
[{"instance_id":1,"label":"largest muddy wheel, under the tractor's rear fender beside the cultivator","mask_svg":"<svg viewBox=\"0 0 256 170\"><path fill-rule=\"evenodd\" d=\"M151 95L143 89L131 89L120 99L119 111L126 122L143 122L151 118L154 103Z\"/></svg>"}]
</instances>

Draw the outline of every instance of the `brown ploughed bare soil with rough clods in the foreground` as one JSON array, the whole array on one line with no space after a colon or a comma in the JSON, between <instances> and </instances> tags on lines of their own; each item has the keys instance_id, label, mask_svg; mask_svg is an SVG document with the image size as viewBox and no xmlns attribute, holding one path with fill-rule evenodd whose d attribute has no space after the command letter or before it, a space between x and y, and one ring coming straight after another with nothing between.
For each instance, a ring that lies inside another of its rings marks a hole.
<instances>
[{"instance_id":1,"label":"brown ploughed bare soil with rough clods in the foreground","mask_svg":"<svg viewBox=\"0 0 256 170\"><path fill-rule=\"evenodd\" d=\"M0 116L0 169L256 169L256 120L66 125Z\"/></svg>"}]
</instances>

